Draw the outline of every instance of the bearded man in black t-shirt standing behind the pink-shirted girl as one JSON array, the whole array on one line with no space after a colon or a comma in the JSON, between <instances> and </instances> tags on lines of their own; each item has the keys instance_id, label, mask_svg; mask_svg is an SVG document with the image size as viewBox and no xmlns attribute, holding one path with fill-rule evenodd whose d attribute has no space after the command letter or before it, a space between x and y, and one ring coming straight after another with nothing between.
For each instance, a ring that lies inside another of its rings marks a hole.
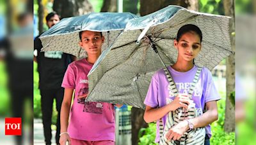
<instances>
[{"instance_id":1,"label":"bearded man in black t-shirt standing behind the pink-shirted girl","mask_svg":"<svg viewBox=\"0 0 256 145\"><path fill-rule=\"evenodd\" d=\"M46 22L50 29L53 25L60 22L60 15L52 11L46 16ZM56 110L58 111L55 139L56 144L59 144L60 110L64 95L64 88L61 87L61 82L68 64L75 60L75 57L63 52L41 52L43 46L38 37L34 40L34 50L37 52L34 60L38 63L45 144L51 144L52 104L54 99L56 99Z\"/></svg>"}]
</instances>

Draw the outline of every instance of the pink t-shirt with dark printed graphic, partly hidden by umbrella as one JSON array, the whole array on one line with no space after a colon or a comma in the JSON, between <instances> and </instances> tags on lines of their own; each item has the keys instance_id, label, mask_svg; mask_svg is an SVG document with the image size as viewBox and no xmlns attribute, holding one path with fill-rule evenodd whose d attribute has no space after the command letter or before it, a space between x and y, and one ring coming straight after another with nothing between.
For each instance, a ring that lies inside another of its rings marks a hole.
<instances>
[{"instance_id":1,"label":"pink t-shirt with dark printed graphic, partly hidden by umbrella","mask_svg":"<svg viewBox=\"0 0 256 145\"><path fill-rule=\"evenodd\" d=\"M85 102L78 96L88 93L87 74L92 64L86 59L69 64L63 78L63 88L74 88L75 97L70 109L68 134L83 141L115 141L115 110L106 102Z\"/></svg>"}]
</instances>

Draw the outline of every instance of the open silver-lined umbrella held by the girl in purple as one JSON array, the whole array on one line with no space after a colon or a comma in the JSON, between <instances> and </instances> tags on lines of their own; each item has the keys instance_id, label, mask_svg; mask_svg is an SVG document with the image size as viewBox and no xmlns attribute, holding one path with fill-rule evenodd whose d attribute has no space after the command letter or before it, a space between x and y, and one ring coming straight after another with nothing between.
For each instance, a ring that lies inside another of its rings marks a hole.
<instances>
[{"instance_id":1,"label":"open silver-lined umbrella held by the girl in purple","mask_svg":"<svg viewBox=\"0 0 256 145\"><path fill-rule=\"evenodd\" d=\"M213 69L230 55L229 18L168 6L145 17L130 20L115 43L100 56L88 74L86 98L144 108L152 74L177 60L173 39L182 25L195 24L203 34L197 66ZM155 45L159 56L152 46ZM164 66L163 66L164 64Z\"/></svg>"}]
</instances>

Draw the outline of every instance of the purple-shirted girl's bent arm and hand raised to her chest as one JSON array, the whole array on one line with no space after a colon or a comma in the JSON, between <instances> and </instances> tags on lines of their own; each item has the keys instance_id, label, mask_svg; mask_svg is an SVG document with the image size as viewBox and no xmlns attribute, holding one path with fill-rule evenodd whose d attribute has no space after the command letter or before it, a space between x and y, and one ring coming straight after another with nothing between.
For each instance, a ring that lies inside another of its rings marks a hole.
<instances>
[{"instance_id":1,"label":"purple-shirted girl's bent arm and hand raised to her chest","mask_svg":"<svg viewBox=\"0 0 256 145\"><path fill-rule=\"evenodd\" d=\"M159 120L160 118L163 118L164 115L169 113L170 111L176 110L178 107L185 107L188 108L188 97L182 97L181 95L175 97L175 99L166 106L154 108L150 106L146 106L145 113L144 113L144 120L147 123L150 123L152 121Z\"/></svg>"}]
</instances>

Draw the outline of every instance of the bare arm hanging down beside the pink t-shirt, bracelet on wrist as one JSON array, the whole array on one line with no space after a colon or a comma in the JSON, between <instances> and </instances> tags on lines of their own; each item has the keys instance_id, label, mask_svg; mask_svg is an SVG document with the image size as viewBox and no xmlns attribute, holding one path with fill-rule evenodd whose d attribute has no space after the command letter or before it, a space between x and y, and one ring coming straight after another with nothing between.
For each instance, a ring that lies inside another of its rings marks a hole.
<instances>
[{"instance_id":1,"label":"bare arm hanging down beside the pink t-shirt, bracelet on wrist","mask_svg":"<svg viewBox=\"0 0 256 145\"><path fill-rule=\"evenodd\" d=\"M70 142L70 137L67 134L67 128L68 128L68 116L69 116L69 111L70 111L70 106L71 106L71 101L72 101L72 95L73 95L74 89L73 88L65 88L64 92L64 98L63 102L61 104L61 111L60 111L60 144L65 144L66 141Z\"/></svg>"}]
</instances>

